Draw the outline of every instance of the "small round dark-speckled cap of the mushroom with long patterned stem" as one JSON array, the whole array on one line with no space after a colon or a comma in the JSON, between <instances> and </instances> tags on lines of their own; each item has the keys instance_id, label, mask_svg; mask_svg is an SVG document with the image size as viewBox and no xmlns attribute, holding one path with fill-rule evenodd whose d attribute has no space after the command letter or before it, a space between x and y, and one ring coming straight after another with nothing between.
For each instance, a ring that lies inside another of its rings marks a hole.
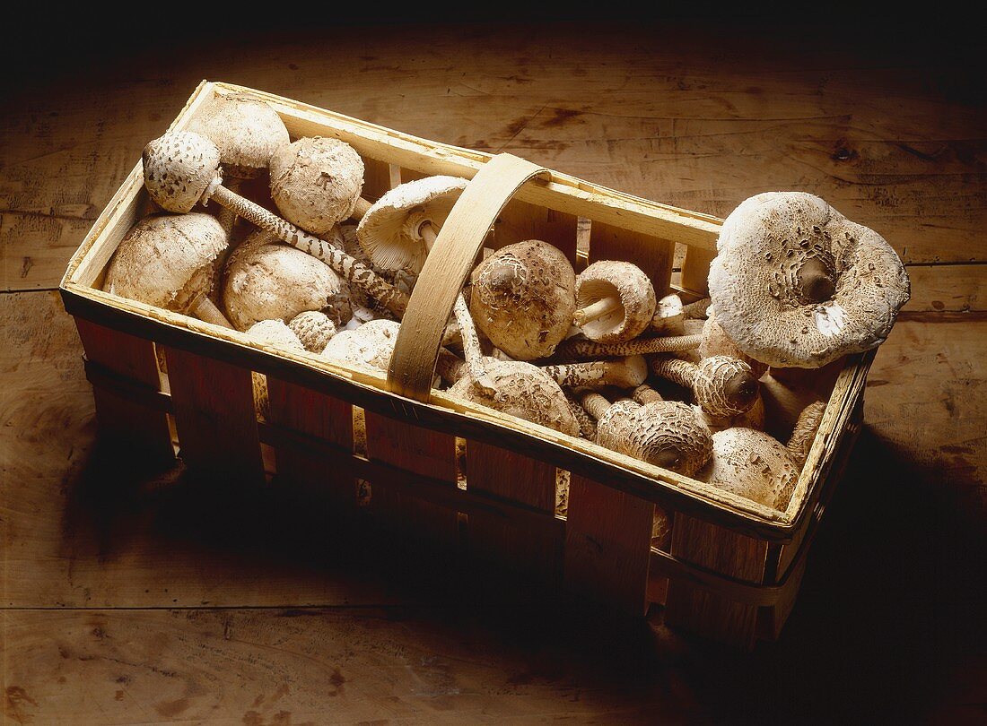
<instances>
[{"instance_id":1,"label":"small round dark-speckled cap of the mushroom with long patterned stem","mask_svg":"<svg viewBox=\"0 0 987 726\"><path fill-rule=\"evenodd\" d=\"M191 131L169 131L144 147L144 186L162 209L189 212L221 183L219 149Z\"/></svg>"}]
</instances>

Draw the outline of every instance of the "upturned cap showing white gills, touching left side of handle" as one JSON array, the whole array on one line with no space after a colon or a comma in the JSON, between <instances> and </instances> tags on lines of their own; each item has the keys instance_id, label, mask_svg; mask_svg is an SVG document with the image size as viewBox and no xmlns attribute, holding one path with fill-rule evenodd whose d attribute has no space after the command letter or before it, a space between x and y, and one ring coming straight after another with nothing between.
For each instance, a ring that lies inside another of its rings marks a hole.
<instances>
[{"instance_id":1,"label":"upturned cap showing white gills, touching left side of handle","mask_svg":"<svg viewBox=\"0 0 987 726\"><path fill-rule=\"evenodd\" d=\"M438 176L395 186L360 219L356 228L360 247L381 269L420 272L427 254L421 224L431 222L438 232L468 183Z\"/></svg>"}]
</instances>

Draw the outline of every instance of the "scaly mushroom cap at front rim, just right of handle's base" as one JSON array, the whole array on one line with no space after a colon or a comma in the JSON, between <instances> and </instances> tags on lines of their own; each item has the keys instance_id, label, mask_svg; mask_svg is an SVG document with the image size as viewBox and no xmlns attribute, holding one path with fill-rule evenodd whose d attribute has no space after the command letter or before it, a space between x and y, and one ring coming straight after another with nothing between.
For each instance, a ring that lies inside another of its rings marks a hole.
<instances>
[{"instance_id":1,"label":"scaly mushroom cap at front rim, just right of handle's base","mask_svg":"<svg viewBox=\"0 0 987 726\"><path fill-rule=\"evenodd\" d=\"M474 386L473 378L466 375L453 384L449 396L479 403L569 436L579 435L579 423L572 415L566 394L541 368L521 361L489 357L484 357L483 365L493 381L495 395Z\"/></svg>"}]
</instances>

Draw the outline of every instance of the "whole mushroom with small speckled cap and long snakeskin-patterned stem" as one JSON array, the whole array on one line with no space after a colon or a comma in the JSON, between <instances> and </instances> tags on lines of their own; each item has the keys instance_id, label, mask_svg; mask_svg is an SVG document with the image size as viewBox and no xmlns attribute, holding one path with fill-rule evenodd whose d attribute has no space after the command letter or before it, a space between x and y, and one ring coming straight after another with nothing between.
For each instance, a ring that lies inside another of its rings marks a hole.
<instances>
[{"instance_id":1,"label":"whole mushroom with small speckled cap and long snakeskin-patterned stem","mask_svg":"<svg viewBox=\"0 0 987 726\"><path fill-rule=\"evenodd\" d=\"M277 239L318 257L346 282L358 287L398 317L408 307L408 295L397 290L365 264L271 214L222 185L219 150L203 136L170 131L144 147L144 185L151 198L173 212L188 212L198 202L214 199Z\"/></svg>"}]
</instances>

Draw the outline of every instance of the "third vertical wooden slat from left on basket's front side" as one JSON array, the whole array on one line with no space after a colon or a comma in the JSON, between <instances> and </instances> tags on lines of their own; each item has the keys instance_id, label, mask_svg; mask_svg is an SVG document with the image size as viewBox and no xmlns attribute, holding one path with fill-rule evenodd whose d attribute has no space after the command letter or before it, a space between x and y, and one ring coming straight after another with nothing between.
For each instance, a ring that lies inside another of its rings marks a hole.
<instances>
[{"instance_id":1,"label":"third vertical wooden slat from left on basket's front side","mask_svg":"<svg viewBox=\"0 0 987 726\"><path fill-rule=\"evenodd\" d=\"M353 408L349 403L271 376L267 376L267 399L271 423L352 449ZM343 510L356 506L352 476L328 467L324 458L298 447L284 445L276 451L278 478L285 484L326 494Z\"/></svg>"}]
</instances>

